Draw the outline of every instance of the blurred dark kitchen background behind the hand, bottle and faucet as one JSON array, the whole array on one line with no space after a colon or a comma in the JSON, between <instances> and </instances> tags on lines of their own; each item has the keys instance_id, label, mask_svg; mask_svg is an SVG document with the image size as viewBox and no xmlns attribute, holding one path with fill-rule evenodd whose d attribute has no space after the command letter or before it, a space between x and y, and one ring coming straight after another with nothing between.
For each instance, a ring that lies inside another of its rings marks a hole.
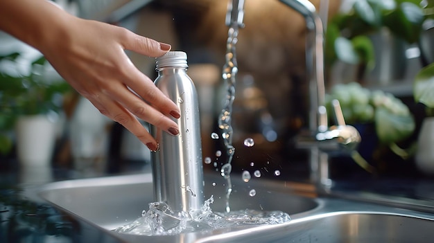
<instances>
[{"instance_id":1,"label":"blurred dark kitchen background behind the hand, bottle and faucet","mask_svg":"<svg viewBox=\"0 0 434 243\"><path fill-rule=\"evenodd\" d=\"M200 99L203 158L211 161L204 169L220 171L225 149L211 134L220 134L227 1L56 2L73 15L123 26L187 53L188 73ZM417 73L433 58L429 2L311 2L324 21L326 101L340 100L347 123L361 132L358 152L374 168L331 154L331 177L431 179L434 155L424 160L431 161L428 165L416 159L422 150L419 132L431 113L413 95ZM309 127L304 18L277 0L247 0L244 24L236 44L233 171L259 170L262 177L309 181L308 152L295 145L297 134ZM153 58L128 55L139 70L156 78ZM3 172L40 163L93 177L148 166L146 146L78 96L40 53L4 33L0 100ZM253 147L244 145L246 138L253 138Z\"/></svg>"}]
</instances>

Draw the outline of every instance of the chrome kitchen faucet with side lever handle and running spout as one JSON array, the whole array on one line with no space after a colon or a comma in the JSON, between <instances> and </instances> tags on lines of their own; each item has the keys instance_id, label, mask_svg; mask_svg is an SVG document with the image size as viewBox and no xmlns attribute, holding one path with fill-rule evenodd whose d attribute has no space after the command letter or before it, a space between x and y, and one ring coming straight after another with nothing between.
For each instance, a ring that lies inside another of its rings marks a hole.
<instances>
[{"instance_id":1,"label":"chrome kitchen faucet with side lever handle and running spout","mask_svg":"<svg viewBox=\"0 0 434 243\"><path fill-rule=\"evenodd\" d=\"M333 111L338 125L328 127L324 82L324 29L315 6L309 0L279 0L299 12L305 19L306 74L309 81L309 131L297 136L297 147L309 149L311 181L318 192L329 192L332 181L329 178L328 151L351 152L361 142L357 129L345 124L338 100L333 100ZM243 27L244 0L229 0L226 15L227 26Z\"/></svg>"}]
</instances>

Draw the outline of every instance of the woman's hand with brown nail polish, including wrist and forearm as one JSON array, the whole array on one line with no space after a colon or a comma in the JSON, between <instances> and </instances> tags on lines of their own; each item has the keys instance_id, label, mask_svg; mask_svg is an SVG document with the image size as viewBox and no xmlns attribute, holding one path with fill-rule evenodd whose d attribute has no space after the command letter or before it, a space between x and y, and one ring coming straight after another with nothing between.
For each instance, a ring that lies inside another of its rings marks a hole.
<instances>
[{"instance_id":1,"label":"woman's hand with brown nail polish, including wrist and forearm","mask_svg":"<svg viewBox=\"0 0 434 243\"><path fill-rule=\"evenodd\" d=\"M174 136L179 133L169 117L180 118L177 105L125 54L129 50L158 57L170 45L125 28L80 19L48 1L1 0L0 29L40 50L78 93L150 150L156 151L158 143L137 118Z\"/></svg>"}]
</instances>

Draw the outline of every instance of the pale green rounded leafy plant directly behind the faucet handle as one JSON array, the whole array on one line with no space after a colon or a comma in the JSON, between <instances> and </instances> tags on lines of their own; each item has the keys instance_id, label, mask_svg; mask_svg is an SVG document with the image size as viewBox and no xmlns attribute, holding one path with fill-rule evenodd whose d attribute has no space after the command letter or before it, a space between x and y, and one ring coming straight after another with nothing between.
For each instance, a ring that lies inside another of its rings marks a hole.
<instances>
[{"instance_id":1,"label":"pale green rounded leafy plant directly behind the faucet handle","mask_svg":"<svg viewBox=\"0 0 434 243\"><path fill-rule=\"evenodd\" d=\"M415 131L415 119L408 107L391 93L371 91L358 82L338 84L326 96L327 110L332 110L331 100L337 99L345 122L354 125L361 133L363 145L371 147L367 153L352 154L353 159L370 172L374 168L364 157L372 156L378 147L389 147L392 152L407 159L410 152L401 149L398 143ZM332 115L333 113L329 113ZM333 117L329 117L330 120ZM360 147L363 146L361 144ZM365 149L366 150L366 149ZM370 154L368 154L370 153Z\"/></svg>"}]
</instances>

